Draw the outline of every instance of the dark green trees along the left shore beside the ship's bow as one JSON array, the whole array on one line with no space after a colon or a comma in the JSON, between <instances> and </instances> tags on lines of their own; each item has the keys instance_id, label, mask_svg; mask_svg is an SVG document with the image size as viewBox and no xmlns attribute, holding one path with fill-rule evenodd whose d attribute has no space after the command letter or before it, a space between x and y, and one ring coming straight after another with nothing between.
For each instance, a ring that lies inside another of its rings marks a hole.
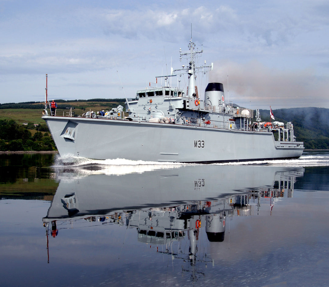
<instances>
[{"instance_id":1,"label":"dark green trees along the left shore beside the ship's bow","mask_svg":"<svg viewBox=\"0 0 329 287\"><path fill-rule=\"evenodd\" d=\"M32 136L29 129L37 132ZM14 120L0 120L0 151L49 151L54 148L55 143L46 124L35 127L33 123L22 125Z\"/></svg>"}]
</instances>

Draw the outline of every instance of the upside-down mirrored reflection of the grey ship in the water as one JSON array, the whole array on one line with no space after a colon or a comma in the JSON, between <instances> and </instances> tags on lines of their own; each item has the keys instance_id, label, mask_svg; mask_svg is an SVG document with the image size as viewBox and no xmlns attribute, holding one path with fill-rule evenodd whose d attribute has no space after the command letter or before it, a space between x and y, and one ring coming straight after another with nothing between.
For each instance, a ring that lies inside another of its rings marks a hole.
<instances>
[{"instance_id":1,"label":"upside-down mirrored reflection of the grey ship in the water","mask_svg":"<svg viewBox=\"0 0 329 287\"><path fill-rule=\"evenodd\" d=\"M147 244L170 260L179 258L181 270L176 272L189 274L194 282L206 276L207 264L216 263L202 236L208 243L219 244L218 249L230 222L258 216L261 210L270 214L282 197L293 196L296 178L303 174L302 167L276 166L89 165L57 169L60 183L42 219L48 262L50 238L61 237L64 229L125 226L136 231L135 243ZM116 240L115 236L109 240ZM198 248L200 240L202 248ZM142 260L140 257L136 260Z\"/></svg>"}]
</instances>

